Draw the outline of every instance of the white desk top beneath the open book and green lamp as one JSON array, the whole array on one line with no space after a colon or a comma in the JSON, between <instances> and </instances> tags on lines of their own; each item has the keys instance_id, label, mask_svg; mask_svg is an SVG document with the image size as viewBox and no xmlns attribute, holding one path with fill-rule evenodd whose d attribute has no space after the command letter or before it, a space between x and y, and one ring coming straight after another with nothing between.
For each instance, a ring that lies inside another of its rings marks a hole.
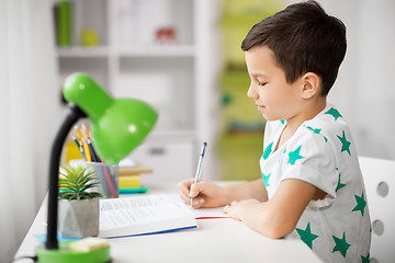
<instances>
[{"instance_id":1,"label":"white desk top beneath the open book and green lamp","mask_svg":"<svg viewBox=\"0 0 395 263\"><path fill-rule=\"evenodd\" d=\"M148 187L149 194L177 191L176 185ZM40 208L15 256L34 255L38 240L33 235L46 232L46 208ZM301 240L269 239L230 218L202 219L198 225L198 229L110 239L113 262L321 262Z\"/></svg>"}]
</instances>

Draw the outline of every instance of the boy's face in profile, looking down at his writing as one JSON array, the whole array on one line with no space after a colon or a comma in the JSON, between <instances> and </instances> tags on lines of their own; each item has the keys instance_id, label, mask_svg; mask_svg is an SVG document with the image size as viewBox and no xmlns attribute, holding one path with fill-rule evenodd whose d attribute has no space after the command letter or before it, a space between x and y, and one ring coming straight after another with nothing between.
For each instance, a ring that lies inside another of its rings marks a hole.
<instances>
[{"instance_id":1,"label":"boy's face in profile, looking down at his writing","mask_svg":"<svg viewBox=\"0 0 395 263\"><path fill-rule=\"evenodd\" d=\"M259 46L246 52L246 64L251 78L247 95L255 100L266 119L289 119L300 113L302 78L287 83L269 47Z\"/></svg>"}]
</instances>

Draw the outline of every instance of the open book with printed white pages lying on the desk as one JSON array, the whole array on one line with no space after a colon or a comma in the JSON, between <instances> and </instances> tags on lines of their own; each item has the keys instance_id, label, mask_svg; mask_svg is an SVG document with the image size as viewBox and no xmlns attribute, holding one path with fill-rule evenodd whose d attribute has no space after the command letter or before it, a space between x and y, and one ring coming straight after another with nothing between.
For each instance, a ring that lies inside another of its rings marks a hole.
<instances>
[{"instance_id":1,"label":"open book with printed white pages lying on the desk","mask_svg":"<svg viewBox=\"0 0 395 263\"><path fill-rule=\"evenodd\" d=\"M131 237L196 228L192 210L161 195L100 201L100 238Z\"/></svg>"}]
</instances>

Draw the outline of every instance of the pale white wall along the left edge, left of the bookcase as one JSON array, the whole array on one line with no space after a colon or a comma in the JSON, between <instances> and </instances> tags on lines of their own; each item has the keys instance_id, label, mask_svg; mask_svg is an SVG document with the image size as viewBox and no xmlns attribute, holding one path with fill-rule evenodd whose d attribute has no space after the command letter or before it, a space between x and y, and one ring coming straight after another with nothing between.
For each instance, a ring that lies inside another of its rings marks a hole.
<instances>
[{"instance_id":1,"label":"pale white wall along the left edge, left of the bookcase","mask_svg":"<svg viewBox=\"0 0 395 263\"><path fill-rule=\"evenodd\" d=\"M59 127L49 0L0 1L0 262L9 262L43 202Z\"/></svg>"}]
</instances>

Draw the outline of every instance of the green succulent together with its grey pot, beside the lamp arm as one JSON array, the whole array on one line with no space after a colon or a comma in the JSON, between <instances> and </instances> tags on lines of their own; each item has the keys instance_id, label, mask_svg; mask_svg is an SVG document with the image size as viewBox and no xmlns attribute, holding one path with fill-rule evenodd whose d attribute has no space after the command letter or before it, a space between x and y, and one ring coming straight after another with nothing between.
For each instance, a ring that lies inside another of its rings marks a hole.
<instances>
[{"instance_id":1,"label":"green succulent together with its grey pot, beside the lamp arm","mask_svg":"<svg viewBox=\"0 0 395 263\"><path fill-rule=\"evenodd\" d=\"M63 167L59 172L58 231L61 238L86 238L99 233L99 183L89 167Z\"/></svg>"}]
</instances>

